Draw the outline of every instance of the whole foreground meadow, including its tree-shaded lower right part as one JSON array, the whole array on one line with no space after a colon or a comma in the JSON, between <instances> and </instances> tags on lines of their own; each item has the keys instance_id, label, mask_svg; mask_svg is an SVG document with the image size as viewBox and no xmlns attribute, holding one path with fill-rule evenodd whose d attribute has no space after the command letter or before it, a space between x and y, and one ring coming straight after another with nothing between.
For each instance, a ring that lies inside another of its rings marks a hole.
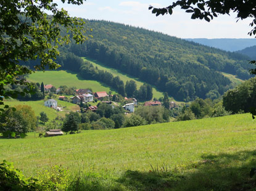
<instances>
[{"instance_id":1,"label":"whole foreground meadow, including its tree-shaded lower right part","mask_svg":"<svg viewBox=\"0 0 256 191\"><path fill-rule=\"evenodd\" d=\"M127 190L243 190L254 185L249 172L256 167L255 134L249 114L61 137L31 133L26 139L0 139L0 159L27 176L62 165Z\"/></svg>"}]
</instances>

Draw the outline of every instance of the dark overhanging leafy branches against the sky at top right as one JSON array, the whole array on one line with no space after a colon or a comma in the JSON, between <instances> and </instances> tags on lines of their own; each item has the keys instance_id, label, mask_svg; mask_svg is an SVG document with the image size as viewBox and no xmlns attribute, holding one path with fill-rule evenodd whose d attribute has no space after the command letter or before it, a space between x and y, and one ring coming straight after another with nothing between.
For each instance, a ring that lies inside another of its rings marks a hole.
<instances>
[{"instance_id":1,"label":"dark overhanging leafy branches against the sky at top right","mask_svg":"<svg viewBox=\"0 0 256 191\"><path fill-rule=\"evenodd\" d=\"M191 13L191 18L205 19L207 22L218 17L218 15L230 14L230 12L236 12L237 18L252 18L250 26L254 27L248 34L250 36L256 34L256 1L255 0L180 0L175 1L168 7L155 8L149 6L152 9L152 13L156 16L164 14L173 14L175 7L181 7L186 12Z\"/></svg>"}]
</instances>

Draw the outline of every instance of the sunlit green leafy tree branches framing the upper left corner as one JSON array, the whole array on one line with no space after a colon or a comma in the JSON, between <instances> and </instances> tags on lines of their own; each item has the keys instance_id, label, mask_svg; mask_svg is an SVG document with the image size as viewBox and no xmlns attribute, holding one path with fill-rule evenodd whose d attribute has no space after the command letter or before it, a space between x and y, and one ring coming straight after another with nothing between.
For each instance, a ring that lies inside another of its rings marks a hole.
<instances>
[{"instance_id":1,"label":"sunlit green leafy tree branches framing the upper left corner","mask_svg":"<svg viewBox=\"0 0 256 191\"><path fill-rule=\"evenodd\" d=\"M83 0L62 0L71 4L83 4ZM7 84L26 84L33 91L33 85L18 76L33 70L58 68L54 62L59 51L57 47L70 42L83 43L85 26L80 18L72 18L64 9L58 9L52 0L2 0L0 6L0 95L17 97L17 91L7 91ZM60 34L60 25L67 35ZM19 65L20 61L41 60L31 70ZM27 92L27 89L24 90ZM0 97L0 104L3 104ZM2 109L1 109L2 111Z\"/></svg>"}]
</instances>

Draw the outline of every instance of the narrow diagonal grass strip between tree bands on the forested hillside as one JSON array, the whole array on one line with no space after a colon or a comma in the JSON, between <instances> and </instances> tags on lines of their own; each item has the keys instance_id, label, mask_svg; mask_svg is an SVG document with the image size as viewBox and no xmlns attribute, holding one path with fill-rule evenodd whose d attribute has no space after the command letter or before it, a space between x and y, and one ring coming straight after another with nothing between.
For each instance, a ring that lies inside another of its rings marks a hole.
<instances>
[{"instance_id":1,"label":"narrow diagonal grass strip between tree bands on the forested hillside","mask_svg":"<svg viewBox=\"0 0 256 191\"><path fill-rule=\"evenodd\" d=\"M108 71L109 73L112 73L112 75L115 76L119 76L120 79L126 84L126 81L129 80L134 80L137 84L137 89L139 89L139 87L143 84L142 81L140 81L138 78L133 78L132 76L126 75L125 73L122 73L122 71L119 71L117 69L114 68L110 68L107 67L105 65L103 65L102 63L98 62L97 60L91 60L88 58L83 57L83 60L89 61L91 62L91 64L93 64L94 67L97 67L99 70L105 70ZM157 91L155 89L155 87L153 87L153 97L159 99L159 97L163 97L163 93L160 91Z\"/></svg>"}]
</instances>

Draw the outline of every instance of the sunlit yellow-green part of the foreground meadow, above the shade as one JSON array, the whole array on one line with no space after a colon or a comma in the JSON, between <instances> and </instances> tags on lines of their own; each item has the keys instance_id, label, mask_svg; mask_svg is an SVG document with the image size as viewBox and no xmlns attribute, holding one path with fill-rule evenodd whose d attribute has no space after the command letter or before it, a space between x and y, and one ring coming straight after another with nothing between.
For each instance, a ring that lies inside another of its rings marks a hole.
<instances>
[{"instance_id":1,"label":"sunlit yellow-green part of the foreground meadow, above the shade","mask_svg":"<svg viewBox=\"0 0 256 191\"><path fill-rule=\"evenodd\" d=\"M62 165L70 171L80 168L117 177L128 169L148 172L151 165L163 164L180 169L213 156L254 152L255 132L255 121L244 114L41 139L32 133L27 139L0 139L0 159L13 161L27 175ZM224 166L247 160L251 158L231 158Z\"/></svg>"}]
</instances>

